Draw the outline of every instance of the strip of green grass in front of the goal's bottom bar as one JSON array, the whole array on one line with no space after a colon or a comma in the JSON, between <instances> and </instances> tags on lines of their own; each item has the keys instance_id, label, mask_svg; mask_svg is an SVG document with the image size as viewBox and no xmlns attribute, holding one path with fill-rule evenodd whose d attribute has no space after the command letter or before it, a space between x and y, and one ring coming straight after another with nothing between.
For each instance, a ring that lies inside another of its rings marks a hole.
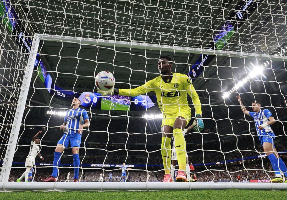
<instances>
[{"instance_id":1,"label":"strip of green grass in front of the goal's bottom bar","mask_svg":"<svg viewBox=\"0 0 287 200\"><path fill-rule=\"evenodd\" d=\"M0 199L286 199L287 191L191 190L191 191L72 191L0 193Z\"/></svg>"}]
</instances>

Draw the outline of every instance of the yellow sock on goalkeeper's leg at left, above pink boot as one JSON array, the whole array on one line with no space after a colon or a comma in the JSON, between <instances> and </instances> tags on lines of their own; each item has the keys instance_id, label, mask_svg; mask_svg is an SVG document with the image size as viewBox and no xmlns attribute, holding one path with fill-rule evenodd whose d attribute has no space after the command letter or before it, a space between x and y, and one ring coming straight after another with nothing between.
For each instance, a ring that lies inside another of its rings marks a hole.
<instances>
[{"instance_id":1,"label":"yellow sock on goalkeeper's leg at left, above pink boot","mask_svg":"<svg viewBox=\"0 0 287 200\"><path fill-rule=\"evenodd\" d=\"M162 137L162 145L161 145L161 153L162 153L162 161L164 167L164 173L170 174L170 156L171 156L171 147L170 147L171 138Z\"/></svg>"}]
</instances>

